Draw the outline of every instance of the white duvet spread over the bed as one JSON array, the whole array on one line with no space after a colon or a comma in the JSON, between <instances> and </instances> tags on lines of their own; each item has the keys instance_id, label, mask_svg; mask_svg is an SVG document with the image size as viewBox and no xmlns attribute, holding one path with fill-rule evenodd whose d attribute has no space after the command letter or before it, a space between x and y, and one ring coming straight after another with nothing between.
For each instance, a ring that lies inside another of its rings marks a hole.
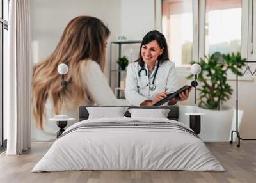
<instances>
[{"instance_id":1,"label":"white duvet spread over the bed","mask_svg":"<svg viewBox=\"0 0 256 183\"><path fill-rule=\"evenodd\" d=\"M170 122L163 118L106 118L76 123L57 139L32 172L72 170L224 171L203 141L169 127L89 127L93 122Z\"/></svg>"}]
</instances>

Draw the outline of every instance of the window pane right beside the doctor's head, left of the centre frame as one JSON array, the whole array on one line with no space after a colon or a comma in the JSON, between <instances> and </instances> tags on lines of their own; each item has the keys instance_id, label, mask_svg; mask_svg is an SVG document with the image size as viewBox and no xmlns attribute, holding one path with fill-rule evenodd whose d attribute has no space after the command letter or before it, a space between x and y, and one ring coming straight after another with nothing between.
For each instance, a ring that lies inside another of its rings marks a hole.
<instances>
[{"instance_id":1,"label":"window pane right beside the doctor's head, left of the centre frame","mask_svg":"<svg viewBox=\"0 0 256 183\"><path fill-rule=\"evenodd\" d=\"M193 48L192 1L163 1L162 32L168 43L170 60L176 66L189 65Z\"/></svg>"}]
</instances>

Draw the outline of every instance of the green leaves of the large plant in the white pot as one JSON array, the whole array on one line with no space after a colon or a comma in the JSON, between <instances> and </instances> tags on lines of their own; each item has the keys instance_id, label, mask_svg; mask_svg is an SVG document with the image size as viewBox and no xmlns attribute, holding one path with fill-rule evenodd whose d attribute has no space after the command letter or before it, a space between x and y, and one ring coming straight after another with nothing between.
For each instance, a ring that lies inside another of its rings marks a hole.
<instances>
[{"instance_id":1,"label":"green leaves of the large plant in the white pot","mask_svg":"<svg viewBox=\"0 0 256 183\"><path fill-rule=\"evenodd\" d=\"M245 65L245 61L241 58L241 54L221 54L215 52L211 56L205 56L205 59L200 59L199 64L202 68L198 74L198 81L201 82L199 92L198 106L204 109L220 110L223 101L230 99L233 89L227 83L227 72L230 70L232 73L241 76L241 68ZM197 63L195 61L191 62ZM237 67L237 69L236 69ZM189 75L187 79L192 79L193 74Z\"/></svg>"}]
</instances>

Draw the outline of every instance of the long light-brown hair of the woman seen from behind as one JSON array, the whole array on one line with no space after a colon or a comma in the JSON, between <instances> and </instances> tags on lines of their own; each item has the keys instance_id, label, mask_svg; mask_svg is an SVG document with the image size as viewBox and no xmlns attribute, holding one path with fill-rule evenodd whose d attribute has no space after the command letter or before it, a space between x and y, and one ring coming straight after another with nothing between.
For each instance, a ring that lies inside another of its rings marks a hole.
<instances>
[{"instance_id":1,"label":"long light-brown hair of the woman seen from behind","mask_svg":"<svg viewBox=\"0 0 256 183\"><path fill-rule=\"evenodd\" d=\"M80 67L84 60L99 63L102 71L105 65L106 40L109 29L95 17L80 16L71 20L65 28L54 52L33 67L32 106L35 123L43 129L45 102L50 97L54 113L61 109L61 76L57 71L60 63L68 65L65 80L68 83L65 99L74 105L90 101L86 86L81 79Z\"/></svg>"}]
</instances>

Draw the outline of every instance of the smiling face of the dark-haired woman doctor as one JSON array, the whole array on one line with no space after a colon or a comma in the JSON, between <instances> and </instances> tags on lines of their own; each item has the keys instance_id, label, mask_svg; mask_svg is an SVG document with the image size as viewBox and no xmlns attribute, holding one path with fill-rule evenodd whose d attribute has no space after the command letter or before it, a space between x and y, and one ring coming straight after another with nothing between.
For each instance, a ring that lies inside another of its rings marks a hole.
<instances>
[{"instance_id":1,"label":"smiling face of the dark-haired woman doctor","mask_svg":"<svg viewBox=\"0 0 256 183\"><path fill-rule=\"evenodd\" d=\"M157 58L163 54L163 48L159 46L156 40L152 40L148 44L142 45L141 56L148 67L153 67Z\"/></svg>"}]
</instances>

